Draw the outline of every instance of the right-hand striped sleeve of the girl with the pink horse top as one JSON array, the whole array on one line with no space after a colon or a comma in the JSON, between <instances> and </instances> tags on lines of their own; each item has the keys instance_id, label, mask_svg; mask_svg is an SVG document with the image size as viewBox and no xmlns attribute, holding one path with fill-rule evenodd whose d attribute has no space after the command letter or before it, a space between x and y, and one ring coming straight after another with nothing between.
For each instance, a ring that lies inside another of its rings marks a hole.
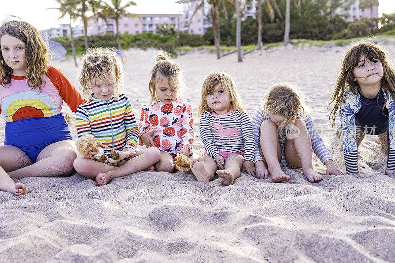
<instances>
[{"instance_id":1,"label":"right-hand striped sleeve of the girl with the pink horse top","mask_svg":"<svg viewBox=\"0 0 395 263\"><path fill-rule=\"evenodd\" d=\"M240 113L241 135L244 141L244 160L254 162L255 158L255 140L252 124L247 113Z\"/></svg>"}]
</instances>

